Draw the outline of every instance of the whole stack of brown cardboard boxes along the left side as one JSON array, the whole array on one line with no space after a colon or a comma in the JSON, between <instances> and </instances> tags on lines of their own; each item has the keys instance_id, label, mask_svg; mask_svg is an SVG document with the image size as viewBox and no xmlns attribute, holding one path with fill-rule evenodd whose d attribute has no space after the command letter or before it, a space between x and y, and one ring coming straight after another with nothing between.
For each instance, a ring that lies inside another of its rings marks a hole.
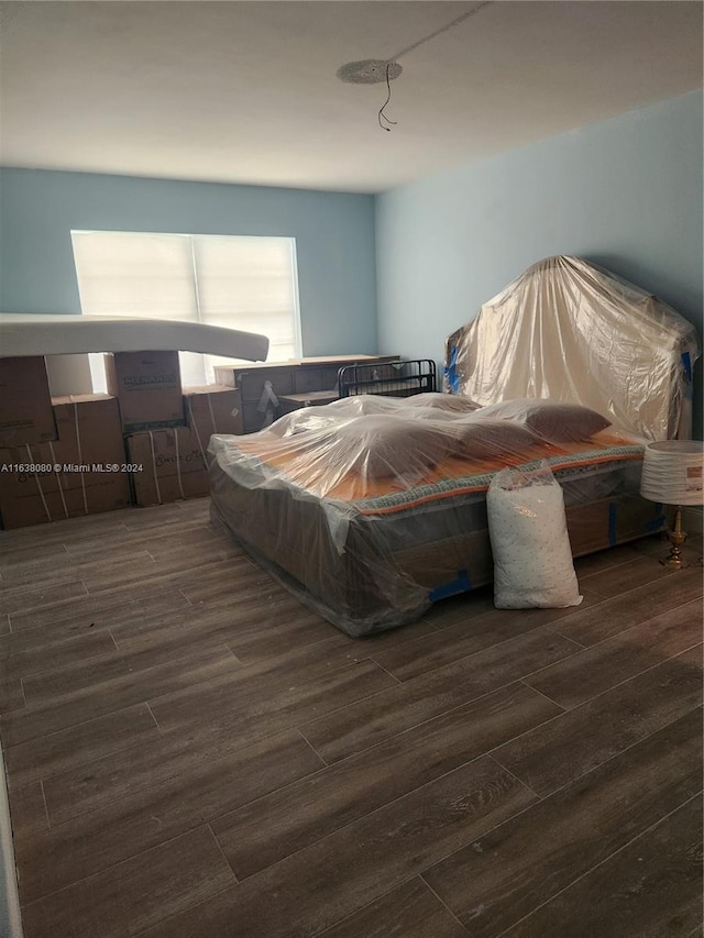
<instances>
[{"instance_id":1,"label":"whole stack of brown cardboard boxes along the left side","mask_svg":"<svg viewBox=\"0 0 704 938\"><path fill-rule=\"evenodd\" d=\"M242 432L239 393L182 389L177 352L106 368L108 395L51 398L44 358L0 358L2 527L208 494L208 441Z\"/></svg>"}]
</instances>

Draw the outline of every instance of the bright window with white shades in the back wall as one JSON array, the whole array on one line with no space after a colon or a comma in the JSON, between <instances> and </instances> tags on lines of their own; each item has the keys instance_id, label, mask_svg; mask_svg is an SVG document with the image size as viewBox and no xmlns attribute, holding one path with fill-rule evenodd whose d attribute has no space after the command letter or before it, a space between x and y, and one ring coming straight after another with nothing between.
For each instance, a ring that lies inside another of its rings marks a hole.
<instances>
[{"instance_id":1,"label":"bright window with white shades in the back wall","mask_svg":"<svg viewBox=\"0 0 704 938\"><path fill-rule=\"evenodd\" d=\"M300 356L293 238L72 231L84 316L177 319L268 336L267 361ZM186 386L212 384L217 355L180 353ZM90 356L96 391L100 355Z\"/></svg>"}]
</instances>

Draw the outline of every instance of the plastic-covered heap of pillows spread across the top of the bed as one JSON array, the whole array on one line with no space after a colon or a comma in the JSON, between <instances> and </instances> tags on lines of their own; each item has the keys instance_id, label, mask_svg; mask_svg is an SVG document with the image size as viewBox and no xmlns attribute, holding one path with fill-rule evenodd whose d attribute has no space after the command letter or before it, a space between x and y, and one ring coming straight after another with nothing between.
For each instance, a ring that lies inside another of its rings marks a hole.
<instances>
[{"instance_id":1,"label":"plastic-covered heap of pillows spread across the top of the bed","mask_svg":"<svg viewBox=\"0 0 704 938\"><path fill-rule=\"evenodd\" d=\"M609 426L587 408L547 400L527 410L517 401L508 413L462 405L461 398L441 394L360 395L295 410L258 433L237 438L235 446L245 459L251 453L255 463L274 470L267 475L271 486L280 476L311 496L354 500L465 476L470 468L495 472L566 454L570 444L595 439Z\"/></svg>"}]
</instances>

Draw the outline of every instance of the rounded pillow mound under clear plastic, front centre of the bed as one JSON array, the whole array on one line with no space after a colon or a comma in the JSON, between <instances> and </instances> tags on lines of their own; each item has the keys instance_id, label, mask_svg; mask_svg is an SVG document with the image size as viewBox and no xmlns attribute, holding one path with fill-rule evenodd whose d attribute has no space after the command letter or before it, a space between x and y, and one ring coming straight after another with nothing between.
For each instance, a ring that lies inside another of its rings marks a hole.
<instances>
[{"instance_id":1,"label":"rounded pillow mound under clear plastic, front centre of the bed","mask_svg":"<svg viewBox=\"0 0 704 938\"><path fill-rule=\"evenodd\" d=\"M452 450L452 440L422 421L378 413L346 421L324 449L336 473L355 471L370 479L396 477L413 484Z\"/></svg>"}]
</instances>

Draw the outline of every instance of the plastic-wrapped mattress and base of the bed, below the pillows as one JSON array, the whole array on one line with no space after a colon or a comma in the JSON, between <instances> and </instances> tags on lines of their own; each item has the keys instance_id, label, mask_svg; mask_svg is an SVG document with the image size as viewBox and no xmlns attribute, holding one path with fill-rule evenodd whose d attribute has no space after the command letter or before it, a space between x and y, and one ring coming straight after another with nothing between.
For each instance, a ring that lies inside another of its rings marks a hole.
<instances>
[{"instance_id":1,"label":"plastic-wrapped mattress and base of the bed, below the pillows","mask_svg":"<svg viewBox=\"0 0 704 938\"><path fill-rule=\"evenodd\" d=\"M294 461L288 474L266 440L213 437L209 455L216 523L348 634L413 622L492 581L486 489L499 464L448 459L417 485L380 481L360 496L351 476L321 494L315 473L305 484ZM638 494L641 444L602 435L531 456L513 462L551 467L574 555L662 528L661 507Z\"/></svg>"}]
</instances>

